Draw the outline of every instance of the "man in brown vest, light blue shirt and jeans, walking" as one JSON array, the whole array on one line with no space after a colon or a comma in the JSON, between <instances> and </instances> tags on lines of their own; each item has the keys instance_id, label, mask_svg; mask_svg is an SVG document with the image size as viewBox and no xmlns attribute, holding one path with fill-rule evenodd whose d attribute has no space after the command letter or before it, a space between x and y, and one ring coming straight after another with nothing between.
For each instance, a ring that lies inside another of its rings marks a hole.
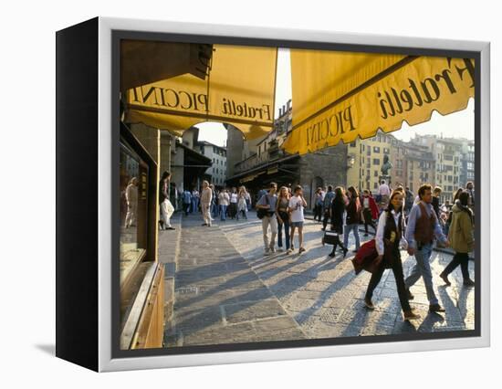
<instances>
[{"instance_id":1,"label":"man in brown vest, light blue shirt and jeans, walking","mask_svg":"<svg viewBox=\"0 0 502 389\"><path fill-rule=\"evenodd\" d=\"M410 288L421 277L424 278L427 299L429 300L429 310L431 312L444 312L444 308L439 305L434 293L433 273L429 260L433 252L434 237L445 247L450 245L448 239L444 237L443 230L439 225L435 215L433 202L433 188L429 184L424 184L418 190L420 201L413 205L406 226L406 240L408 241L408 254L415 256L416 263L404 285L408 294L408 300L413 300Z\"/></svg>"}]
</instances>

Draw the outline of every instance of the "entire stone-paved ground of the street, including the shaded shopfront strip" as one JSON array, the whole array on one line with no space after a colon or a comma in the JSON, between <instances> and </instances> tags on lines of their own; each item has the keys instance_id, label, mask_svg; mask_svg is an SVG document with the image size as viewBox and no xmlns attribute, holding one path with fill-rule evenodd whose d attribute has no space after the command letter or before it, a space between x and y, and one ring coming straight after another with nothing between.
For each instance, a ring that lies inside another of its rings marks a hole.
<instances>
[{"instance_id":1,"label":"entire stone-paved ground of the street, including the shaded shopfront strip","mask_svg":"<svg viewBox=\"0 0 502 389\"><path fill-rule=\"evenodd\" d=\"M428 312L420 280L411 303L421 319L407 322L392 271L375 289L377 309L367 310L362 299L370 273L355 275L350 252L345 259L341 253L329 258L331 246L321 246L319 223L306 221L307 252L264 257L261 222L254 212L249 216L247 221L214 220L211 228L201 226L199 216L183 217L167 347L474 329L475 289L463 287L459 268L450 275L450 287L438 276L450 254L434 251L431 261L446 312ZM353 245L350 240L350 250ZM406 275L414 258L405 251L402 258ZM469 267L474 276L474 261Z\"/></svg>"}]
</instances>

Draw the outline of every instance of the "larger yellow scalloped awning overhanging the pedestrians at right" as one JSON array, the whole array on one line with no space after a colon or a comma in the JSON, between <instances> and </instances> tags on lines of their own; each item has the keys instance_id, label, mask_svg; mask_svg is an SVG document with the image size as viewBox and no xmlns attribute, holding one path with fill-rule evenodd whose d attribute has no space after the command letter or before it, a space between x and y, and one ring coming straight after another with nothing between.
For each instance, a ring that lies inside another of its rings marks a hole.
<instances>
[{"instance_id":1,"label":"larger yellow scalloped awning overhanging the pedestrians at right","mask_svg":"<svg viewBox=\"0 0 502 389\"><path fill-rule=\"evenodd\" d=\"M396 131L474 97L473 59L292 49L291 75L293 131L283 145L291 153Z\"/></svg>"}]
</instances>

